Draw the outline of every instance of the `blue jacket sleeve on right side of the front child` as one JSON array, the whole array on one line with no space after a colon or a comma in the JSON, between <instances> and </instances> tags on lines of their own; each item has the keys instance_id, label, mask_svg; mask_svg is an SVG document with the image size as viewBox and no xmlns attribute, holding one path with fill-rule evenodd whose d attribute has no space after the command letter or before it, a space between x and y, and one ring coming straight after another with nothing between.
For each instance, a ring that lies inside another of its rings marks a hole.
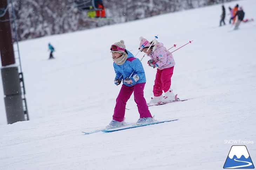
<instances>
[{"instance_id":1,"label":"blue jacket sleeve on right side of the front child","mask_svg":"<svg viewBox=\"0 0 256 170\"><path fill-rule=\"evenodd\" d=\"M142 63L139 59L136 58L135 60L133 60L131 62L131 67L134 70L134 73L131 77L133 82L136 83L137 81L144 78L144 76L145 76L144 68L143 68Z\"/></svg>"}]
</instances>

